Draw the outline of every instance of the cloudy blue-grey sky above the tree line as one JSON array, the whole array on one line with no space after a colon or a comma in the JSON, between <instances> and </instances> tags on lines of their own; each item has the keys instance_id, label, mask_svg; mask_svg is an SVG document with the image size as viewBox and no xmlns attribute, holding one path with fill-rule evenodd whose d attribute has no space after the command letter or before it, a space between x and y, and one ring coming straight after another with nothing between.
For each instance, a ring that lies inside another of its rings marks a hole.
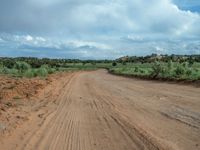
<instances>
[{"instance_id":1,"label":"cloudy blue-grey sky above the tree line","mask_svg":"<svg viewBox=\"0 0 200 150\"><path fill-rule=\"evenodd\" d=\"M0 0L0 57L200 54L200 0Z\"/></svg>"}]
</instances>

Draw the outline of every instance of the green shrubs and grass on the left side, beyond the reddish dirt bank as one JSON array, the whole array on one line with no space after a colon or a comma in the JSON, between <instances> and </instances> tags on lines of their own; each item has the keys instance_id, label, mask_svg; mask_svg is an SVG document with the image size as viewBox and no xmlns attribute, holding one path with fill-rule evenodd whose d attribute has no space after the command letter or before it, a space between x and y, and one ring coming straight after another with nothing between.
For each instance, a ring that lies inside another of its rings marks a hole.
<instances>
[{"instance_id":1,"label":"green shrubs and grass on the left side, beyond the reddish dirt bank","mask_svg":"<svg viewBox=\"0 0 200 150\"><path fill-rule=\"evenodd\" d=\"M62 71L109 68L111 63L111 60L0 58L0 74L27 78L46 77L48 74Z\"/></svg>"}]
</instances>

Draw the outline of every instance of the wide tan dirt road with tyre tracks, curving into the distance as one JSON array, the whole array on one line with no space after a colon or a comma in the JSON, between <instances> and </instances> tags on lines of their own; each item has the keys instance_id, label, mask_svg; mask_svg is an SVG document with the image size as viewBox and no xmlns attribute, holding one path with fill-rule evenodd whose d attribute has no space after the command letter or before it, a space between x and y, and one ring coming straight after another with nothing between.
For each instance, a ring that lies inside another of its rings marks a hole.
<instances>
[{"instance_id":1,"label":"wide tan dirt road with tyre tracks, curving into the distance","mask_svg":"<svg viewBox=\"0 0 200 150\"><path fill-rule=\"evenodd\" d=\"M0 149L200 149L200 89L105 70L75 73Z\"/></svg>"}]
</instances>

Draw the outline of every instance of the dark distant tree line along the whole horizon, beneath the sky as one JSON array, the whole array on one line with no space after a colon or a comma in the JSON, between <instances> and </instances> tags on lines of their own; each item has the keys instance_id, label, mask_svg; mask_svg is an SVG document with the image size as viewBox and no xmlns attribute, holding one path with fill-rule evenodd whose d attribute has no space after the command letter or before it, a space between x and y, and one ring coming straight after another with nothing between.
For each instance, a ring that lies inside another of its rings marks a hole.
<instances>
[{"instance_id":1,"label":"dark distant tree line along the whole horizon, beneath the sky","mask_svg":"<svg viewBox=\"0 0 200 150\"><path fill-rule=\"evenodd\" d=\"M50 59L50 58L35 58L35 57L0 57L0 66L7 68L13 68L16 62L26 62L32 68L40 68L42 65L48 65L49 67L67 67L69 63L82 63L96 65L97 63L112 63L116 66L117 63L153 63L153 62L187 62L192 65L194 62L200 62L200 55L157 55L151 54L147 56L124 56L116 60L79 60L79 59Z\"/></svg>"}]
</instances>

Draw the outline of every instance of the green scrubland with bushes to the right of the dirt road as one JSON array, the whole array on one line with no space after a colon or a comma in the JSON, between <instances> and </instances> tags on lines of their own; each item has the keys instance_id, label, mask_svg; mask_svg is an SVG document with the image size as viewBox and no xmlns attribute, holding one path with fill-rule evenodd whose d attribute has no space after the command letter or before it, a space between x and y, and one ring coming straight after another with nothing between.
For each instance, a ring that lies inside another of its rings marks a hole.
<instances>
[{"instance_id":1,"label":"green scrubland with bushes to the right of the dirt road","mask_svg":"<svg viewBox=\"0 0 200 150\"><path fill-rule=\"evenodd\" d=\"M200 80L200 57L199 55L123 57L118 59L118 64L109 71L119 75L150 79Z\"/></svg>"}]
</instances>

